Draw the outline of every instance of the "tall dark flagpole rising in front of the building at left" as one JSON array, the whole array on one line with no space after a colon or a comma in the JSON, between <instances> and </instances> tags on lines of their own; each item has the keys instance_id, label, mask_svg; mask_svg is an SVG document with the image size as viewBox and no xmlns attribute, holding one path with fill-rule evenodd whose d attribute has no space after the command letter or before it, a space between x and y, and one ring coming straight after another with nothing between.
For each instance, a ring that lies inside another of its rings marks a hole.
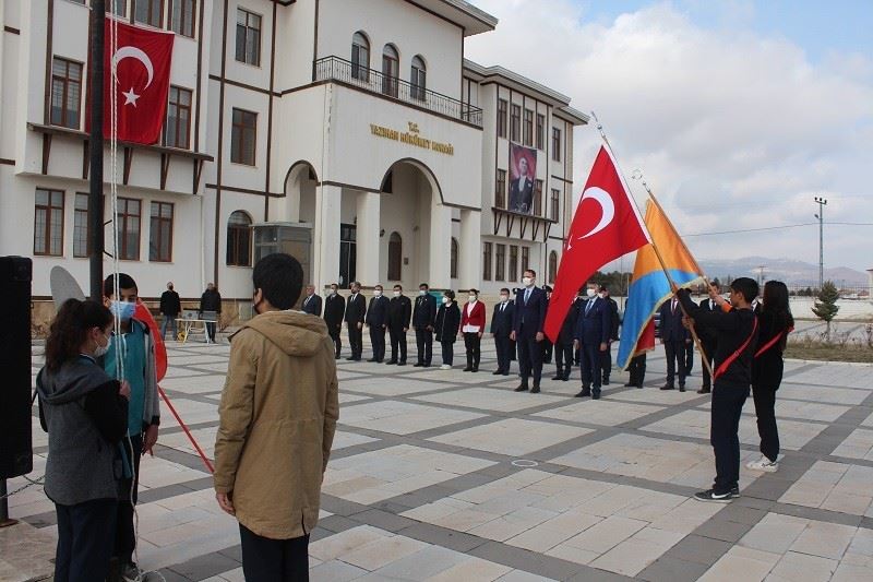
<instances>
[{"instance_id":1,"label":"tall dark flagpole rising in front of the building at left","mask_svg":"<svg viewBox=\"0 0 873 582\"><path fill-rule=\"evenodd\" d=\"M106 0L91 2L91 190L88 234L91 235L91 298L103 300L104 200L103 200L103 85Z\"/></svg>"}]
</instances>

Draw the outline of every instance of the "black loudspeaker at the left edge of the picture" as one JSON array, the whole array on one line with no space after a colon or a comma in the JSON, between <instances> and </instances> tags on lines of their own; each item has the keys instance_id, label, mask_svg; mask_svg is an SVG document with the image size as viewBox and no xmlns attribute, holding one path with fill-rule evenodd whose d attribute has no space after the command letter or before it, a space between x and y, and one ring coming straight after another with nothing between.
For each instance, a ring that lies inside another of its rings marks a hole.
<instances>
[{"instance_id":1,"label":"black loudspeaker at the left edge of the picture","mask_svg":"<svg viewBox=\"0 0 873 582\"><path fill-rule=\"evenodd\" d=\"M31 440L33 262L0 257L0 478L34 470Z\"/></svg>"}]
</instances>

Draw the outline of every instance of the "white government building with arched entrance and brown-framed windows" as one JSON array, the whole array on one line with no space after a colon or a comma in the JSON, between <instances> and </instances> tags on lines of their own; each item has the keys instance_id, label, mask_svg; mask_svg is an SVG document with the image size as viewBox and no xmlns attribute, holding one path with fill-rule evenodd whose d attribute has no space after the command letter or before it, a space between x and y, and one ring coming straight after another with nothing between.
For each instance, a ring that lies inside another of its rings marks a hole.
<instances>
[{"instance_id":1,"label":"white government building with arched entrance and brown-framed windows","mask_svg":"<svg viewBox=\"0 0 873 582\"><path fill-rule=\"evenodd\" d=\"M37 297L56 264L87 282L86 4L0 0L0 254L34 258ZM493 16L464 0L107 5L177 33L162 144L119 149L120 258L141 295L215 282L248 299L253 261L275 250L318 287L490 294L527 265L541 283L554 271L587 117L464 58ZM506 210L511 141L537 152L528 214Z\"/></svg>"}]
</instances>

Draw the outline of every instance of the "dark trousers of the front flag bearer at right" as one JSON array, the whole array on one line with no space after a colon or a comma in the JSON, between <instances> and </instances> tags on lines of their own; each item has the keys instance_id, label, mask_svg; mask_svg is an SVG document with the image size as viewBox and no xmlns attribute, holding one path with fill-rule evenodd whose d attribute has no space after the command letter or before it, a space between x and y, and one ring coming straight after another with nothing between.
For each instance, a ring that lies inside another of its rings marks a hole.
<instances>
[{"instance_id":1,"label":"dark trousers of the front flag bearer at right","mask_svg":"<svg viewBox=\"0 0 873 582\"><path fill-rule=\"evenodd\" d=\"M749 397L749 387L716 380L713 387L709 442L716 455L713 488L725 494L740 482L740 415Z\"/></svg>"}]
</instances>

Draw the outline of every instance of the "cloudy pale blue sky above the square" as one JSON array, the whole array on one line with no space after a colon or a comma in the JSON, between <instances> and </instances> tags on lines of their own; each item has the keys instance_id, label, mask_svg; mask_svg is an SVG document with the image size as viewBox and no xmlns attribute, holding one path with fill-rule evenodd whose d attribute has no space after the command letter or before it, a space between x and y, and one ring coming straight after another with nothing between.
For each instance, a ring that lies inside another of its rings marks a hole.
<instances>
[{"instance_id":1,"label":"cloudy pale blue sky above the square","mask_svg":"<svg viewBox=\"0 0 873 582\"><path fill-rule=\"evenodd\" d=\"M873 268L873 0L474 3L500 23L465 56L596 112L698 260L817 263L824 197L825 266ZM576 200L600 144L576 128Z\"/></svg>"}]
</instances>

